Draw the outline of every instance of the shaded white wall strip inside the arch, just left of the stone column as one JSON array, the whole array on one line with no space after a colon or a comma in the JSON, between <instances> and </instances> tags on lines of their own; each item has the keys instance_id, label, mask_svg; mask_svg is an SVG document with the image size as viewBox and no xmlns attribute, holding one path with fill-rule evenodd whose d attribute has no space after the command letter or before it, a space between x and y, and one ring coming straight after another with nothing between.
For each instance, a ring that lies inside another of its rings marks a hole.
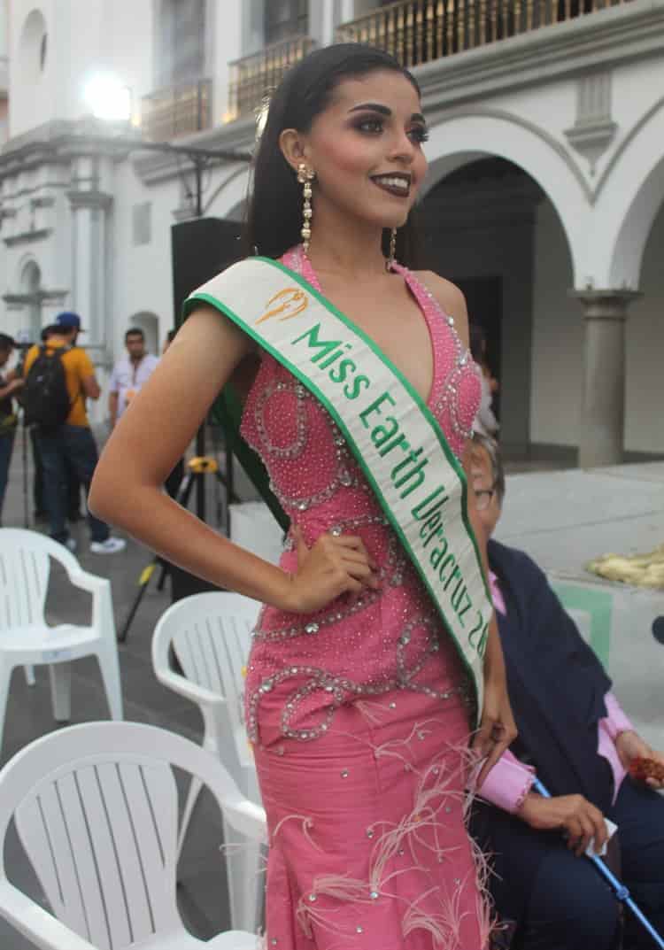
<instances>
[{"instance_id":1,"label":"shaded white wall strip inside the arch, just left of the stone column","mask_svg":"<svg viewBox=\"0 0 664 950\"><path fill-rule=\"evenodd\" d=\"M550 201L535 225L530 441L579 444L583 326L568 295L572 268L560 220Z\"/></svg>"}]
</instances>

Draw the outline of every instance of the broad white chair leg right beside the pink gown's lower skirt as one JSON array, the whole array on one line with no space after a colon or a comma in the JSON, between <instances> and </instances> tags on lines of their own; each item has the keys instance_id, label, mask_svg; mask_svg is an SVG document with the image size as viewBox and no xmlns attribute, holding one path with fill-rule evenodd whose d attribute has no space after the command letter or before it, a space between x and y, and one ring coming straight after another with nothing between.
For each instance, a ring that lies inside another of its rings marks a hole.
<instances>
[{"instance_id":1,"label":"broad white chair leg right beside the pink gown's lower skirt","mask_svg":"<svg viewBox=\"0 0 664 950\"><path fill-rule=\"evenodd\" d=\"M265 881L263 849L223 823L231 928L256 933L262 917Z\"/></svg>"}]
</instances>

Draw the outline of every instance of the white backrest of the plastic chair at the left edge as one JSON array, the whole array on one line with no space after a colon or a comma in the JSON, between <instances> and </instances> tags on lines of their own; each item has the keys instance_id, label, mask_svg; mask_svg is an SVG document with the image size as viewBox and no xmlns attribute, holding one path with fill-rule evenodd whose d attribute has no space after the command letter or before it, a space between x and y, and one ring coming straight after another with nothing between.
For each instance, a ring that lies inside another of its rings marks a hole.
<instances>
[{"instance_id":1,"label":"white backrest of the plastic chair at the left edge","mask_svg":"<svg viewBox=\"0 0 664 950\"><path fill-rule=\"evenodd\" d=\"M0 632L45 625L54 543L35 531L0 529Z\"/></svg>"}]
</instances>

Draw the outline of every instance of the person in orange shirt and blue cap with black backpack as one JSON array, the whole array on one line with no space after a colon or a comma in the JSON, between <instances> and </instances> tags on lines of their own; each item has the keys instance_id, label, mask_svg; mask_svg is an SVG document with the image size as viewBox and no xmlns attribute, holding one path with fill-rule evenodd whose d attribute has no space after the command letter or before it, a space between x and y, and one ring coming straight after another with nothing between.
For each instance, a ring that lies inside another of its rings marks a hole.
<instances>
[{"instance_id":1,"label":"person in orange shirt and blue cap with black backpack","mask_svg":"<svg viewBox=\"0 0 664 950\"><path fill-rule=\"evenodd\" d=\"M76 345L81 318L68 311L58 314L42 346L33 346L24 365L23 403L28 426L36 430L44 469L44 496L50 536L70 551L76 542L66 526L66 466L76 471L85 492L97 465L97 446L85 411L86 399L99 399L101 390L88 354ZM115 554L125 542L110 535L108 525L89 511L90 551Z\"/></svg>"}]
</instances>

